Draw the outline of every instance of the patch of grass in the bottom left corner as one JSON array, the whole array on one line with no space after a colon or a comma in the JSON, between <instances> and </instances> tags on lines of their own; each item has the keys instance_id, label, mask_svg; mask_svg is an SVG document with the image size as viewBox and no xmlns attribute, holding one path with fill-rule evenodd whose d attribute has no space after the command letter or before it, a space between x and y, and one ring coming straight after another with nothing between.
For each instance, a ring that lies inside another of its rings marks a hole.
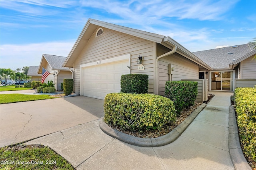
<instances>
[{"instance_id":1,"label":"patch of grass in the bottom left corner","mask_svg":"<svg viewBox=\"0 0 256 170\"><path fill-rule=\"evenodd\" d=\"M0 148L1 170L74 170L62 156L42 145Z\"/></svg>"}]
</instances>

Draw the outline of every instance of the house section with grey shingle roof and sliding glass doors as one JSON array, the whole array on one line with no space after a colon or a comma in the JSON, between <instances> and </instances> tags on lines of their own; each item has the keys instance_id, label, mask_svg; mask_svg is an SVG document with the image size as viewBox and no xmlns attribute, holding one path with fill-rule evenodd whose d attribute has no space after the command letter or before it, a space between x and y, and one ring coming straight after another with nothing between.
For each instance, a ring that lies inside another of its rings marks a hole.
<instances>
[{"instance_id":1,"label":"house section with grey shingle roof and sliding glass doors","mask_svg":"<svg viewBox=\"0 0 256 170\"><path fill-rule=\"evenodd\" d=\"M256 84L256 50L250 43L193 54L213 68L200 68L200 78L209 80L209 90L234 91L236 87Z\"/></svg>"}]
</instances>

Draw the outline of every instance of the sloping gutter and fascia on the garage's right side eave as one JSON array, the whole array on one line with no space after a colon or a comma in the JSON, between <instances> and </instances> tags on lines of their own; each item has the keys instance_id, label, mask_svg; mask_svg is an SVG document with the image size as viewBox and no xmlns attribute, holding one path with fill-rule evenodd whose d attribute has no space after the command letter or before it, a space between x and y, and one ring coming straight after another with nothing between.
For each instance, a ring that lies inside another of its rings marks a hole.
<instances>
[{"instance_id":1,"label":"sloping gutter and fascia on the garage's right side eave","mask_svg":"<svg viewBox=\"0 0 256 170\"><path fill-rule=\"evenodd\" d=\"M204 68L206 68L208 70L213 70L210 66L208 66L206 63L204 63L202 60L200 60L198 57L196 57L193 53L188 51L185 47L180 45L180 43L178 43L174 39L172 39L170 37L164 37L163 42L167 43L168 45L176 45L178 47L176 53L183 55L187 59L190 59L194 63L197 63L200 66L203 66ZM162 44L162 45L164 45L164 44Z\"/></svg>"}]
</instances>

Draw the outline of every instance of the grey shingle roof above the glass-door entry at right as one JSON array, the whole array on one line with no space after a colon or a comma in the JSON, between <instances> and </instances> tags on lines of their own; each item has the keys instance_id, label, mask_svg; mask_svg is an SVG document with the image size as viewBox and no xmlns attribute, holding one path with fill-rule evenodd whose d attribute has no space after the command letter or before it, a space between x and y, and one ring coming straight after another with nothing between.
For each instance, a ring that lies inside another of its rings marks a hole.
<instances>
[{"instance_id":1,"label":"grey shingle roof above the glass-door entry at right","mask_svg":"<svg viewBox=\"0 0 256 170\"><path fill-rule=\"evenodd\" d=\"M193 52L199 59L204 61L214 70L230 69L229 64L237 61L246 54L252 52L250 44L235 45L219 49L210 49Z\"/></svg>"}]
</instances>

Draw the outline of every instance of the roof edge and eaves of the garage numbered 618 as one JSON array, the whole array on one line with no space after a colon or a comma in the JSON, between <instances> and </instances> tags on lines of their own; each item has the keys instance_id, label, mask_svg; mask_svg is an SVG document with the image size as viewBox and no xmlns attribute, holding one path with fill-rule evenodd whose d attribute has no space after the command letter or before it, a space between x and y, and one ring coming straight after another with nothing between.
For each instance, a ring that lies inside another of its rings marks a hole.
<instances>
[{"instance_id":1,"label":"roof edge and eaves of the garage numbered 618","mask_svg":"<svg viewBox=\"0 0 256 170\"><path fill-rule=\"evenodd\" d=\"M164 35L159 35L155 33L150 33L146 31L141 31L138 29L133 29L129 27L124 27L120 25L115 25L112 23L107 23L104 21L98 21L93 19L88 19L86 22L86 25L82 29L78 39L76 40L74 46L72 47L70 53L68 54L68 57L66 61L64 61L63 66L64 67L73 67L73 63L76 60L76 57L80 54L84 46L86 46L86 43L88 43L90 37L94 33L94 31L98 27L105 27L108 29L112 29L114 31L119 31L122 33L126 33L129 35L133 35L136 37L140 37L149 41L153 41L156 43L160 43L168 48L177 46L177 53L182 54L184 57L194 61L197 64L200 64L201 66L204 66L205 68L212 70L210 66L205 64L202 60L198 59L194 54L192 54L190 51L188 51L186 48L184 48L182 45L171 39L170 37L166 37Z\"/></svg>"}]
</instances>

